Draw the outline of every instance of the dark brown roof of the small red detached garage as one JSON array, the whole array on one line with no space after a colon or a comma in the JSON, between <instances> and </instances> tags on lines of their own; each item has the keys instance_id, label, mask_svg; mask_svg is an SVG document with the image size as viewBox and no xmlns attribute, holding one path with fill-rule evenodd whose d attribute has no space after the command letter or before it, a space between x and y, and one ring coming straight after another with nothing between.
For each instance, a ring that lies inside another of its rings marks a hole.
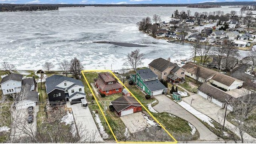
<instances>
[{"instance_id":1,"label":"dark brown roof of the small red detached garage","mask_svg":"<svg viewBox=\"0 0 256 144\"><path fill-rule=\"evenodd\" d=\"M125 96L125 95L118 97L114 101L111 101L111 103L118 113L131 105L141 106L140 103L136 101L134 97Z\"/></svg>"}]
</instances>

